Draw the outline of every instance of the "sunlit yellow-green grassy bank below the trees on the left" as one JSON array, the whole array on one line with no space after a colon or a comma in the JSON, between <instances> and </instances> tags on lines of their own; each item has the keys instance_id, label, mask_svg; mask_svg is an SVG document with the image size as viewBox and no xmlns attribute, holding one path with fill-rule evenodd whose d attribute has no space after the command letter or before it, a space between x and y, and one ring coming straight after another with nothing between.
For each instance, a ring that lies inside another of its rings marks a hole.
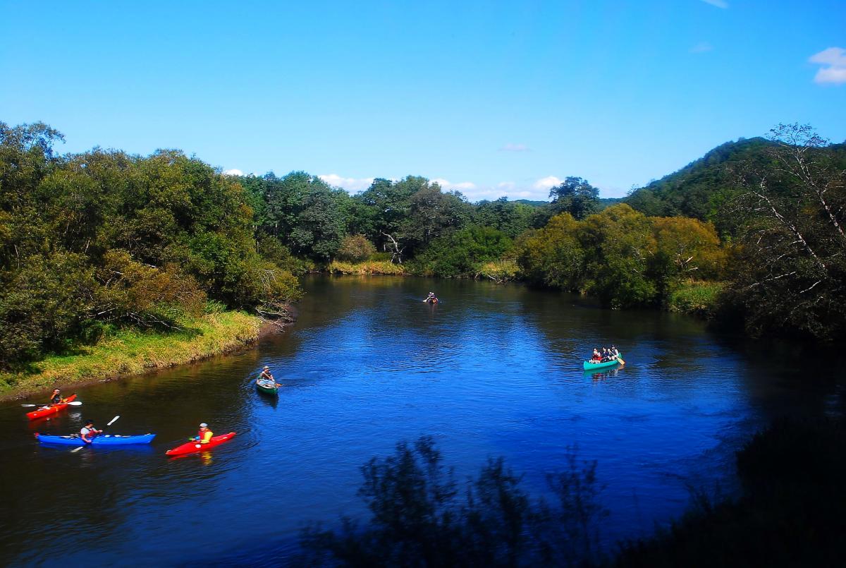
<instances>
[{"instance_id":1,"label":"sunlit yellow-green grassy bank below the trees on the left","mask_svg":"<svg viewBox=\"0 0 846 568\"><path fill-rule=\"evenodd\" d=\"M47 356L34 363L30 372L0 373L0 399L135 375L238 350L258 339L262 320L245 312L221 312L185 320L181 325L182 330L167 334L121 330L74 354Z\"/></svg>"}]
</instances>

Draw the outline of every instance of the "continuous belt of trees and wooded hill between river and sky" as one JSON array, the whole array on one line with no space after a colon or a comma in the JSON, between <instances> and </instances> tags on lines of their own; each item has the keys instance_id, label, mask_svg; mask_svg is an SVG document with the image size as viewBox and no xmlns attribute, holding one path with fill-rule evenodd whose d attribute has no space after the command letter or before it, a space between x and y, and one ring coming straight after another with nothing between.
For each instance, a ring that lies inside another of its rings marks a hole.
<instances>
[{"instance_id":1,"label":"continuous belt of trees and wooded hill between river and sky","mask_svg":"<svg viewBox=\"0 0 846 568\"><path fill-rule=\"evenodd\" d=\"M279 314L313 270L522 280L756 336L846 334L846 149L805 126L623 200L569 177L549 202L475 204L415 176L350 196L305 172L233 177L179 151L62 155L61 141L0 123L0 389L120 334Z\"/></svg>"}]
</instances>

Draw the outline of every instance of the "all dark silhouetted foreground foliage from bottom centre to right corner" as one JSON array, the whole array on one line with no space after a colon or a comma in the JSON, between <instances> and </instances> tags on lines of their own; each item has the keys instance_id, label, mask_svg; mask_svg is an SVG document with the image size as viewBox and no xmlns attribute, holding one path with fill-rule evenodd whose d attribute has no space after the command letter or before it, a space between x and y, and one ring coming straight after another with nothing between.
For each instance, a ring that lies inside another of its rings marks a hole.
<instances>
[{"instance_id":1,"label":"all dark silhouetted foreground foliage from bottom centre to right corner","mask_svg":"<svg viewBox=\"0 0 846 568\"><path fill-rule=\"evenodd\" d=\"M688 512L654 536L600 546L595 461L564 456L532 499L502 458L457 483L432 439L400 442L361 467L370 518L300 535L296 565L344 566L838 566L846 543L843 421L780 420L737 453L733 497L691 491ZM599 465L601 467L601 464Z\"/></svg>"}]
</instances>

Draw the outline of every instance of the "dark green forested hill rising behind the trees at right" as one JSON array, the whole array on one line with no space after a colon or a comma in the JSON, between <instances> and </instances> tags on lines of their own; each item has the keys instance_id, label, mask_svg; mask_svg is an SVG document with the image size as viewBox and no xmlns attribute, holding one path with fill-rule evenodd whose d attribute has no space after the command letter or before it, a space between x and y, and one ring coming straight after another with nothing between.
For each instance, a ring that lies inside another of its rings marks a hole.
<instances>
[{"instance_id":1,"label":"dark green forested hill rising behind the trees at right","mask_svg":"<svg viewBox=\"0 0 846 568\"><path fill-rule=\"evenodd\" d=\"M734 177L742 169L760 167L772 159L766 148L774 142L765 138L741 138L726 142L673 174L634 190L624 199L635 210L653 217L693 217L716 220L720 204L736 186Z\"/></svg>"}]
</instances>

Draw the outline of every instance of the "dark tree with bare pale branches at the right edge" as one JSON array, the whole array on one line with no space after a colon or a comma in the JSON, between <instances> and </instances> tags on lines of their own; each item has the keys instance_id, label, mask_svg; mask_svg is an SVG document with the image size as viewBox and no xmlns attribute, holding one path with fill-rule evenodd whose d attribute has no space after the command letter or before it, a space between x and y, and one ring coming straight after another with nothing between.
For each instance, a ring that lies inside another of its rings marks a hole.
<instances>
[{"instance_id":1,"label":"dark tree with bare pale branches at the right edge","mask_svg":"<svg viewBox=\"0 0 846 568\"><path fill-rule=\"evenodd\" d=\"M733 298L754 333L846 336L846 147L779 124L768 168L750 168L727 212L743 220Z\"/></svg>"}]
</instances>

